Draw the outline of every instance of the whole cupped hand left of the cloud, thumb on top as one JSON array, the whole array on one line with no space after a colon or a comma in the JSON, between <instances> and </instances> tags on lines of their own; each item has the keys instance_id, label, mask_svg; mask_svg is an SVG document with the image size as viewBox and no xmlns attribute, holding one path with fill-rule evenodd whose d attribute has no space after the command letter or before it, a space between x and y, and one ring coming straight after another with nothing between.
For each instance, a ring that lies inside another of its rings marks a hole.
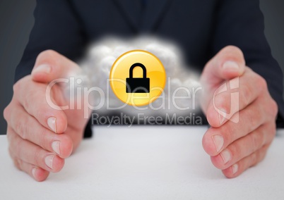
<instances>
[{"instance_id":1,"label":"whole cupped hand left of the cloud, thumb on top","mask_svg":"<svg viewBox=\"0 0 284 200\"><path fill-rule=\"evenodd\" d=\"M47 104L45 94L48 82L79 69L55 51L42 52L32 74L14 85L13 99L4 110L9 154L19 170L37 181L45 180L49 172L59 172L64 158L70 156L83 137L87 123L83 109L56 110ZM65 88L57 84L51 89L50 97L57 106L69 105Z\"/></svg>"}]
</instances>

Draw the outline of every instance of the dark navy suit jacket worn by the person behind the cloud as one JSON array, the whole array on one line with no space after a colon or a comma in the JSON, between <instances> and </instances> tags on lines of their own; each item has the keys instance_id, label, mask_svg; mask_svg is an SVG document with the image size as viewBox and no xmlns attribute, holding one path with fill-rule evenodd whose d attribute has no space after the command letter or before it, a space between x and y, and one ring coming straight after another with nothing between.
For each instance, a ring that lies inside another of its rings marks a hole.
<instances>
[{"instance_id":1,"label":"dark navy suit jacket worn by the person behind the cloud","mask_svg":"<svg viewBox=\"0 0 284 200\"><path fill-rule=\"evenodd\" d=\"M224 46L238 46L247 65L268 82L269 92L284 116L283 74L266 42L258 0L143 2L37 0L35 25L15 81L30 74L35 58L45 49L54 49L76 61L83 56L86 44L105 35L133 37L150 33L179 44L187 62L199 72Z\"/></svg>"}]
</instances>

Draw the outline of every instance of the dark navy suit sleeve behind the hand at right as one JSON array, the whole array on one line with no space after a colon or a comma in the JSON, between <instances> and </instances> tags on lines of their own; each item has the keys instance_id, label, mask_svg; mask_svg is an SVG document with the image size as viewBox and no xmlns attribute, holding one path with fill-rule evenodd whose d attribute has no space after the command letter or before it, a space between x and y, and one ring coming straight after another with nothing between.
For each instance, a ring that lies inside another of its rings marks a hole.
<instances>
[{"instance_id":1,"label":"dark navy suit sleeve behind the hand at right","mask_svg":"<svg viewBox=\"0 0 284 200\"><path fill-rule=\"evenodd\" d=\"M249 68L266 80L279 108L277 125L283 127L283 73L264 35L264 15L259 0L220 0L216 13L213 52L216 54L227 45L242 49Z\"/></svg>"}]
</instances>

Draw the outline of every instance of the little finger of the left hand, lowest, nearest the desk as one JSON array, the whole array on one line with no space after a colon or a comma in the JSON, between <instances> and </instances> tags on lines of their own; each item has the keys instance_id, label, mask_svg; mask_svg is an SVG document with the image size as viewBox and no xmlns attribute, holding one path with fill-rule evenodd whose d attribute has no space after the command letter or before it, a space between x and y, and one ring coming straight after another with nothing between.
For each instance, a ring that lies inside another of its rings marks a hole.
<instances>
[{"instance_id":1,"label":"little finger of the left hand, lowest, nearest the desk","mask_svg":"<svg viewBox=\"0 0 284 200\"><path fill-rule=\"evenodd\" d=\"M26 163L19 158L14 159L14 165L16 165L19 170L22 170L39 182L46 180L49 176L49 172L47 170L38 168L37 166L31 165L30 163Z\"/></svg>"}]
</instances>

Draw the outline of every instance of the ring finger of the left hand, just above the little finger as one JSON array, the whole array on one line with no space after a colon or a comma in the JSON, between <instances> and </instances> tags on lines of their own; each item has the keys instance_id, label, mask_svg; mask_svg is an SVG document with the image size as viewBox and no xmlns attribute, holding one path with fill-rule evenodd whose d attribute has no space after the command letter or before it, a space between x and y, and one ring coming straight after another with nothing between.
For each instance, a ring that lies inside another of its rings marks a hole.
<instances>
[{"instance_id":1,"label":"ring finger of the left hand, just above the little finger","mask_svg":"<svg viewBox=\"0 0 284 200\"><path fill-rule=\"evenodd\" d=\"M8 132L9 151L13 155L13 158L19 158L26 163L54 173L59 172L63 168L64 159L25 139L21 139L11 129Z\"/></svg>"}]
</instances>

